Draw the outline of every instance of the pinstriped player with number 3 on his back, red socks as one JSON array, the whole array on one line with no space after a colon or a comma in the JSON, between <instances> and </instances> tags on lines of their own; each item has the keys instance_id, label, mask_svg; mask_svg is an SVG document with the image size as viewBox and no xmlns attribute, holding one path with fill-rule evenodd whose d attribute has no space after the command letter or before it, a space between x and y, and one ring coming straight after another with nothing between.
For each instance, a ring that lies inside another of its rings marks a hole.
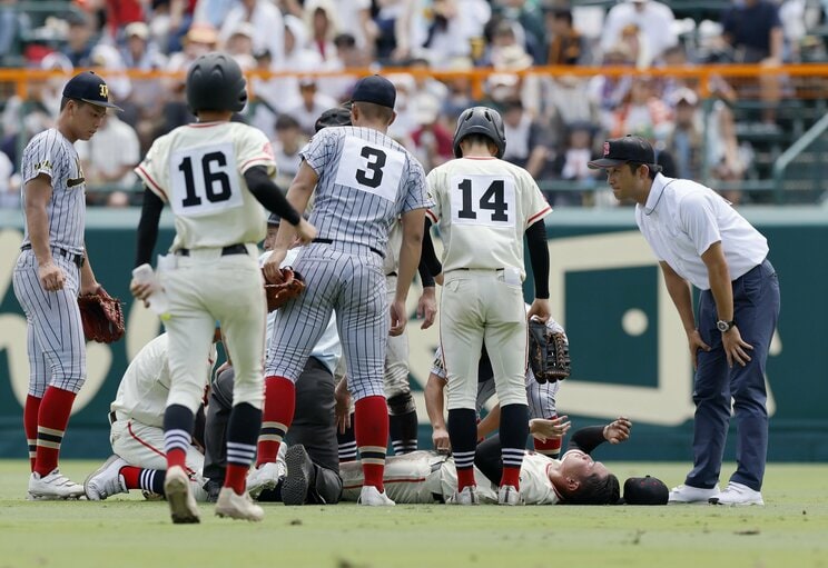
<instances>
[{"instance_id":1,"label":"pinstriped player with number 3 on his back, red socks","mask_svg":"<svg viewBox=\"0 0 828 568\"><path fill-rule=\"evenodd\" d=\"M383 391L388 310L383 257L391 223L402 216L396 295L391 332L405 329L405 299L420 261L423 219L430 201L422 166L385 132L394 120L396 90L379 76L357 82L352 127L326 128L308 145L287 199L304 209L316 189L312 222L319 237L296 262L305 293L276 320L265 381L265 416L258 461L273 461L294 413L295 388L310 349L332 310L356 400L355 435L365 471L363 505L393 505L383 488L388 415ZM278 266L294 241L282 223L265 275L279 280Z\"/></svg>"}]
</instances>

